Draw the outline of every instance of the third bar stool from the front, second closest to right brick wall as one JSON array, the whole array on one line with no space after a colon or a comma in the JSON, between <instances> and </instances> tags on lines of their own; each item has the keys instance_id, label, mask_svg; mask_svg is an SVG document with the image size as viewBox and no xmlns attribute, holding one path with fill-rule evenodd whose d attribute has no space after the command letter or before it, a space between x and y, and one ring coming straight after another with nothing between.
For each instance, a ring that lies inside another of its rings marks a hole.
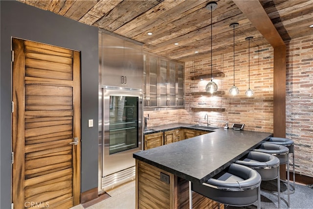
<instances>
[{"instance_id":1,"label":"third bar stool from the front, second closest to right brick wall","mask_svg":"<svg viewBox=\"0 0 313 209\"><path fill-rule=\"evenodd\" d=\"M283 145L279 144L272 144L272 143L262 143L260 146L258 146L253 151L256 152L263 152L270 155L274 155L277 157L280 161L280 164L286 164L287 163L287 194L288 194L288 208L290 207L290 189L289 189L289 160L288 160L288 154L289 149Z\"/></svg>"}]
</instances>

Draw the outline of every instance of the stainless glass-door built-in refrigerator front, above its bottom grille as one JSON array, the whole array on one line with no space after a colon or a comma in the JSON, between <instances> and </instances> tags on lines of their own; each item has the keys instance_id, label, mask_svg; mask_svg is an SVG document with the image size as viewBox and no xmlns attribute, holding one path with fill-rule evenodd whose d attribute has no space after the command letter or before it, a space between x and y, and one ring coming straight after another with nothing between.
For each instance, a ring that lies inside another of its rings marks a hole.
<instances>
[{"instance_id":1,"label":"stainless glass-door built-in refrigerator front, above its bottom grille","mask_svg":"<svg viewBox=\"0 0 313 209\"><path fill-rule=\"evenodd\" d=\"M142 150L142 91L108 86L102 91L102 178L106 178L133 167L133 153Z\"/></svg>"}]
</instances>

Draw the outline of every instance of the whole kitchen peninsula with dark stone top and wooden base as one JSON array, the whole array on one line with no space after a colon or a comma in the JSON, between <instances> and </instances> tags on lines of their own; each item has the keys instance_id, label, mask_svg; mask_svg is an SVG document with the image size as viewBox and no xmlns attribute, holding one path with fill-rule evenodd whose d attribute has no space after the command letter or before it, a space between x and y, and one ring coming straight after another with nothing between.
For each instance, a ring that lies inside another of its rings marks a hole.
<instances>
[{"instance_id":1,"label":"whole kitchen peninsula with dark stone top and wooden base","mask_svg":"<svg viewBox=\"0 0 313 209\"><path fill-rule=\"evenodd\" d=\"M271 136L270 133L216 129L134 153L136 208L188 208L189 181L202 184ZM216 202L193 192L194 208L214 208L214 204Z\"/></svg>"}]
</instances>

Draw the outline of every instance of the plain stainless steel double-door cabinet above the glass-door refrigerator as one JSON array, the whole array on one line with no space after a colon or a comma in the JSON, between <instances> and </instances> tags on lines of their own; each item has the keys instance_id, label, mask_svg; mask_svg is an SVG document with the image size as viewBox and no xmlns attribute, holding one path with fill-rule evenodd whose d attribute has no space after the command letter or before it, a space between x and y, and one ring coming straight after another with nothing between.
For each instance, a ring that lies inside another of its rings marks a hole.
<instances>
[{"instance_id":1,"label":"plain stainless steel double-door cabinet above the glass-door refrigerator","mask_svg":"<svg viewBox=\"0 0 313 209\"><path fill-rule=\"evenodd\" d=\"M101 32L102 85L142 89L142 46Z\"/></svg>"}]
</instances>

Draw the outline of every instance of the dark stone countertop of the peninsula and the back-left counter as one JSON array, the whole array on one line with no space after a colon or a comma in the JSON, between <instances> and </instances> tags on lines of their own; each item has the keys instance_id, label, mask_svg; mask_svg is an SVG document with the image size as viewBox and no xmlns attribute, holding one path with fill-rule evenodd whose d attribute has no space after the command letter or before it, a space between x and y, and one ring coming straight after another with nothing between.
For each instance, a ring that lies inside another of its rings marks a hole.
<instances>
[{"instance_id":1,"label":"dark stone countertop of the peninsula and the back-left counter","mask_svg":"<svg viewBox=\"0 0 313 209\"><path fill-rule=\"evenodd\" d=\"M163 129L165 126L167 129ZM192 125L165 126L159 126L158 131ZM156 127L153 129L157 130ZM270 133L220 128L198 137L139 151L133 156L180 178L202 184L271 136Z\"/></svg>"}]
</instances>

